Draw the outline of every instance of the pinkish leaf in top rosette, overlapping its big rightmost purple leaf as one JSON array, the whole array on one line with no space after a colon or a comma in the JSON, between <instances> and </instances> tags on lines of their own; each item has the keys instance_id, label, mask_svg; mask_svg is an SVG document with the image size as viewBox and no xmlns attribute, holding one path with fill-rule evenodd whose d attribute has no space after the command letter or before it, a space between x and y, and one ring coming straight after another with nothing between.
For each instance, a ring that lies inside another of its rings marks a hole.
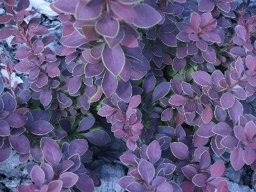
<instances>
[{"instance_id":1,"label":"pinkish leaf in top rosette, overlapping its big rightmost purple leaf","mask_svg":"<svg viewBox=\"0 0 256 192\"><path fill-rule=\"evenodd\" d=\"M131 4L122 4L116 1L111 2L111 10L125 22L132 24L136 18L136 12Z\"/></svg>"}]
</instances>

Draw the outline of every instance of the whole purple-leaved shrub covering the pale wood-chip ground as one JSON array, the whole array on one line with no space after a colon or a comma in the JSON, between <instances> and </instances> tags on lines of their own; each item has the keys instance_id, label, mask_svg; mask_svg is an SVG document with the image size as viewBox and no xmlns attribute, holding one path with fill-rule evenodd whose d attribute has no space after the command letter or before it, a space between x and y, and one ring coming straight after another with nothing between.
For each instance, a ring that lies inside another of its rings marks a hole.
<instances>
[{"instance_id":1,"label":"whole purple-leaved shrub covering the pale wood-chip ground","mask_svg":"<svg viewBox=\"0 0 256 192\"><path fill-rule=\"evenodd\" d=\"M106 118L127 145L127 191L225 192L223 161L256 169L256 8L232 0L57 0L60 47L29 0L0 0L0 162L15 150L25 191L95 191L88 148ZM61 60L65 58L65 60ZM12 84L13 72L28 75ZM182 183L172 181L183 175ZM256 175L253 175L256 179Z\"/></svg>"}]
</instances>

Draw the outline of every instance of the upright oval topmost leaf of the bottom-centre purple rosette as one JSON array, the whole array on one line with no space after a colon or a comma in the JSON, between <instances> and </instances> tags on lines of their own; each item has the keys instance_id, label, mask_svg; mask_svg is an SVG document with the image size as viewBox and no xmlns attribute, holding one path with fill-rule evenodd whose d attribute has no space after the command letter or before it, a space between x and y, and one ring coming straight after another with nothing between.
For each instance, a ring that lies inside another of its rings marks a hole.
<instances>
[{"instance_id":1,"label":"upright oval topmost leaf of the bottom-centre purple rosette","mask_svg":"<svg viewBox=\"0 0 256 192\"><path fill-rule=\"evenodd\" d=\"M148 145L147 156L152 164L155 164L161 157L161 147L157 141L152 141L152 143Z\"/></svg>"}]
</instances>

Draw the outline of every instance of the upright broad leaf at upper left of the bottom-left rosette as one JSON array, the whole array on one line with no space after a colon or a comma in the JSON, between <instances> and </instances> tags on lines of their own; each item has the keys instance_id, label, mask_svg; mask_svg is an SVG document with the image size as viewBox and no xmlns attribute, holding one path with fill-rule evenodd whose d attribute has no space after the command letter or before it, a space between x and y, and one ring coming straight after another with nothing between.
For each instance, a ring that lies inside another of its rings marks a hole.
<instances>
[{"instance_id":1,"label":"upright broad leaf at upper left of the bottom-left rosette","mask_svg":"<svg viewBox=\"0 0 256 192\"><path fill-rule=\"evenodd\" d=\"M43 148L43 154L45 160L51 163L54 170L56 170L62 155L60 148L53 143L46 143Z\"/></svg>"}]
</instances>

